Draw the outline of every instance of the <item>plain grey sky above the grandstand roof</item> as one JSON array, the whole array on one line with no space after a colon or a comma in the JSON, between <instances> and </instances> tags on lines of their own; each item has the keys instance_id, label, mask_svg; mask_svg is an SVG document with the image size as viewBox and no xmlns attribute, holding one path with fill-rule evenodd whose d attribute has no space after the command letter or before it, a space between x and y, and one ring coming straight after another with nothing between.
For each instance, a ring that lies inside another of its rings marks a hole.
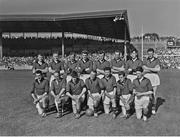
<instances>
[{"instance_id":1,"label":"plain grey sky above the grandstand roof","mask_svg":"<svg viewBox=\"0 0 180 137\"><path fill-rule=\"evenodd\" d=\"M130 35L180 38L180 0L0 0L0 14L50 14L124 10ZM143 28L143 29L142 29Z\"/></svg>"}]
</instances>

